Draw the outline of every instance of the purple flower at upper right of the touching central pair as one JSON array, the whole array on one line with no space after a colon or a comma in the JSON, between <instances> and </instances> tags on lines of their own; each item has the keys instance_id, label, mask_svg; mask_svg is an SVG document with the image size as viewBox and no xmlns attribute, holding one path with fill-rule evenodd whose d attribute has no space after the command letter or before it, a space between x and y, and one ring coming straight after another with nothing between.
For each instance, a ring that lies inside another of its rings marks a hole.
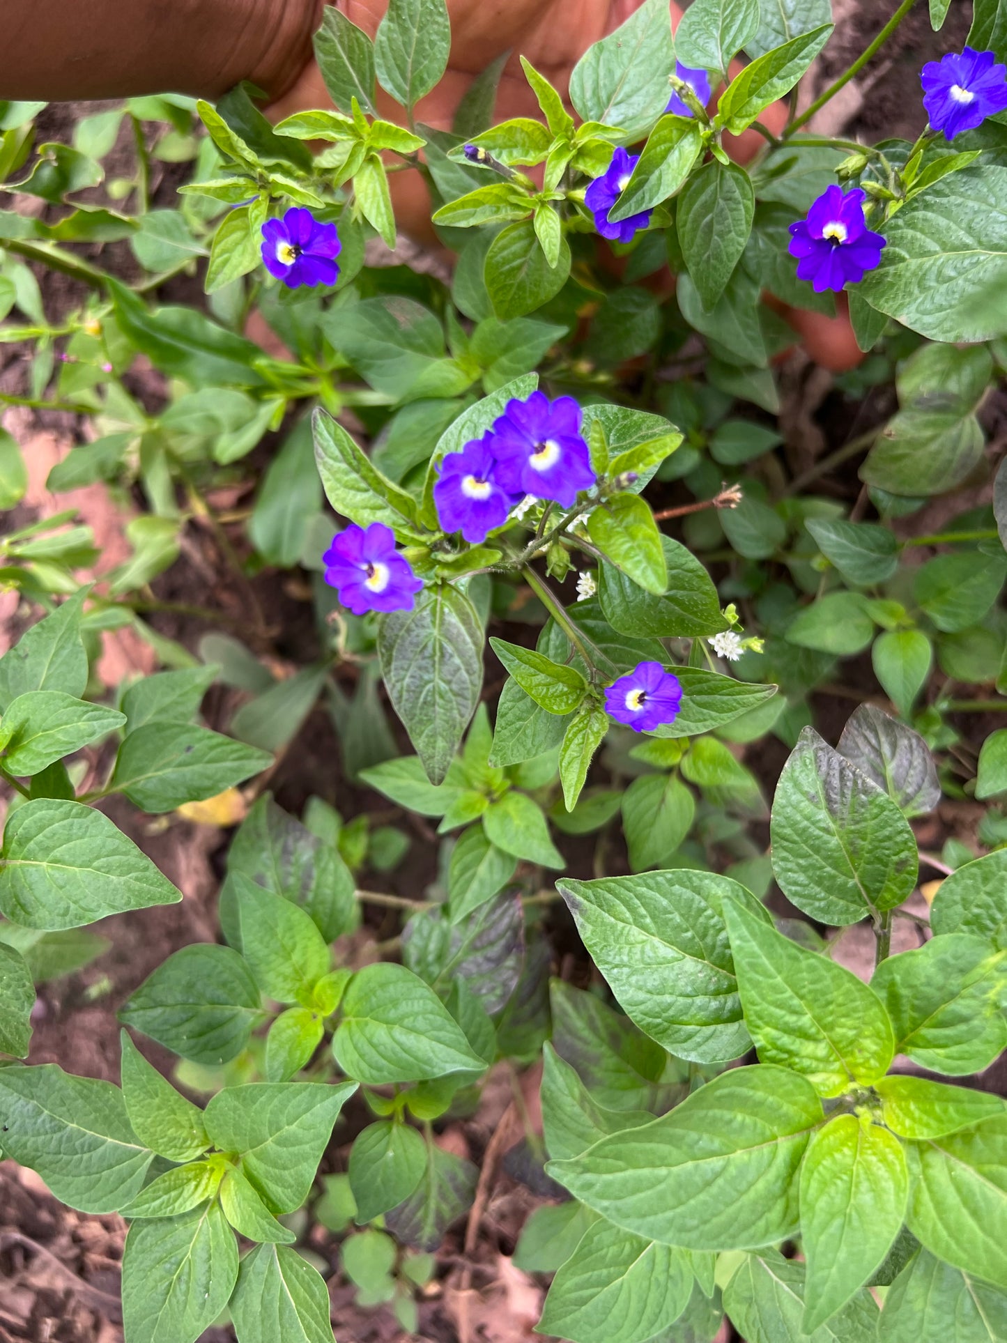
<instances>
[{"instance_id":1,"label":"purple flower at upper right of the touching central pair","mask_svg":"<svg viewBox=\"0 0 1007 1343\"><path fill-rule=\"evenodd\" d=\"M577 493L595 483L580 432L580 406L572 396L550 402L545 392L532 392L526 402L508 402L487 442L497 459L497 481L508 494L533 494L572 508Z\"/></svg>"}]
</instances>

